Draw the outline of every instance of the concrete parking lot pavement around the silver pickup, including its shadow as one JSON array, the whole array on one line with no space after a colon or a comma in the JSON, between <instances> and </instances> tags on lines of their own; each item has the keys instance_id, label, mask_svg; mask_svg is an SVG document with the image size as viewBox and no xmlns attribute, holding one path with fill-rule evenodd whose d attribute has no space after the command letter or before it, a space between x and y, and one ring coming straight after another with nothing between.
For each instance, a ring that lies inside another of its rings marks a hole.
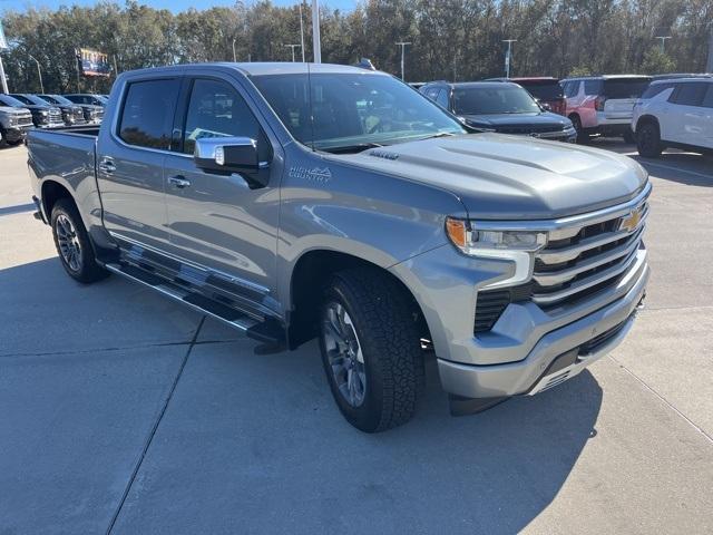
<instances>
[{"instance_id":1,"label":"concrete parking lot pavement around the silver pickup, including its shadow","mask_svg":"<svg viewBox=\"0 0 713 535\"><path fill-rule=\"evenodd\" d=\"M25 148L0 150L0 534L713 533L713 160L642 163L653 274L623 346L471 417L431 374L409 425L368 436L315 344L254 354L117 276L70 280Z\"/></svg>"}]
</instances>

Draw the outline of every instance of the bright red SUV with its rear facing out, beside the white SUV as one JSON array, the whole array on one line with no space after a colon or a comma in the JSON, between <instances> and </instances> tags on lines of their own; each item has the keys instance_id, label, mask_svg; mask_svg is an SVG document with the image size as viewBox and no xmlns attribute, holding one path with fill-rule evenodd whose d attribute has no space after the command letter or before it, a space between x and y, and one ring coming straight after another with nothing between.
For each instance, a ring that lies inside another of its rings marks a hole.
<instances>
[{"instance_id":1,"label":"bright red SUV with its rear facing out, beside the white SUV","mask_svg":"<svg viewBox=\"0 0 713 535\"><path fill-rule=\"evenodd\" d=\"M651 84L648 76L590 76L560 81L567 100L567 117L577 130L577 140L593 135L623 136L634 143L634 105Z\"/></svg>"}]
</instances>

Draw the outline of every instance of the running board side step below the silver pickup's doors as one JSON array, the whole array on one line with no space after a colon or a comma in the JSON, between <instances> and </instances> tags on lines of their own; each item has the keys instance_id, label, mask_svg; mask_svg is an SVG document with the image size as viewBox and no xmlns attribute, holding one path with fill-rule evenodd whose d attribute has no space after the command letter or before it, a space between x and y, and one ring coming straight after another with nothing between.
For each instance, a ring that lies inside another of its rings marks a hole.
<instances>
[{"instance_id":1,"label":"running board side step below the silver pickup's doors","mask_svg":"<svg viewBox=\"0 0 713 535\"><path fill-rule=\"evenodd\" d=\"M245 335L253 340L264 342L267 347L260 348L260 352L277 352L285 348L285 332L280 322L275 319L257 321L250 315L214 301L205 295L192 292L188 289L173 284L148 271L129 264L107 263L104 265L111 273L138 282L152 288L174 301L178 301L202 314L209 315L216 320L243 331Z\"/></svg>"}]
</instances>

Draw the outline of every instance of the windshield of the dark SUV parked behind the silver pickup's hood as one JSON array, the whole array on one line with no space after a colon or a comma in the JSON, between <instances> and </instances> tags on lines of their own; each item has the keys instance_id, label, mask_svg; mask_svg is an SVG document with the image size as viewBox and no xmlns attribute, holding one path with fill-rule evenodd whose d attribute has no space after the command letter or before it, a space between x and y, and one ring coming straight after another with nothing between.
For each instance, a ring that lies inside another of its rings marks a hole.
<instances>
[{"instance_id":1,"label":"windshield of the dark SUV parked behind the silver pickup's hood","mask_svg":"<svg viewBox=\"0 0 713 535\"><path fill-rule=\"evenodd\" d=\"M541 111L521 87L492 82L492 86L457 87L453 108L458 115L538 114Z\"/></svg>"}]
</instances>

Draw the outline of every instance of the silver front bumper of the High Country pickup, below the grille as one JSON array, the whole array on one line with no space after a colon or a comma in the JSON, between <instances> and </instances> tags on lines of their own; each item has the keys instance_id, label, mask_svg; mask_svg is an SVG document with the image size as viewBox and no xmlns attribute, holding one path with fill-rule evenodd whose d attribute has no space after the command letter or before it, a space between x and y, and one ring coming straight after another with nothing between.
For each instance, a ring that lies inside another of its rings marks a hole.
<instances>
[{"instance_id":1,"label":"silver front bumper of the High Country pickup, below the grille","mask_svg":"<svg viewBox=\"0 0 713 535\"><path fill-rule=\"evenodd\" d=\"M471 366L438 359L443 389L462 398L535 395L576 376L625 338L644 299L649 270L644 263L625 295L545 334L527 357L504 364ZM605 340L589 350L587 342Z\"/></svg>"}]
</instances>

